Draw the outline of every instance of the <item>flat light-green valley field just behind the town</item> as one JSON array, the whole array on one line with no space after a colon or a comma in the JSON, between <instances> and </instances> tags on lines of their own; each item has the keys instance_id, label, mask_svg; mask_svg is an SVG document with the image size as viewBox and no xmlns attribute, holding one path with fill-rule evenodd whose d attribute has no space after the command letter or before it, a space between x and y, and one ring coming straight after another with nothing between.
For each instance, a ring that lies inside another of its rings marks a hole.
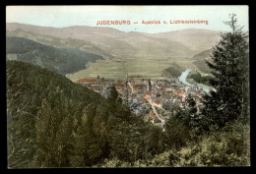
<instances>
[{"instance_id":1,"label":"flat light-green valley field just behind the town","mask_svg":"<svg viewBox=\"0 0 256 174\"><path fill-rule=\"evenodd\" d=\"M189 59L123 59L123 60L96 60L96 63L87 64L87 69L74 74L67 74L66 77L75 81L81 78L104 79L125 79L129 76L140 76L142 78L164 79L162 76L164 69L178 65L180 74L186 68L196 68Z\"/></svg>"}]
</instances>

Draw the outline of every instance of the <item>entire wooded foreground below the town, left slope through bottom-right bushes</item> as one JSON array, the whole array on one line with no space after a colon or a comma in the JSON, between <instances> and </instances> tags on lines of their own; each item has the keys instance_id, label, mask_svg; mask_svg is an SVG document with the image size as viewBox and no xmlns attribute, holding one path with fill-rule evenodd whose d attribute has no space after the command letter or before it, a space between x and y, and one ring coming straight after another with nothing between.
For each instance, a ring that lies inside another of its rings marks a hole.
<instances>
[{"instance_id":1,"label":"entire wooded foreground below the town, left slope through bottom-right bushes","mask_svg":"<svg viewBox=\"0 0 256 174\"><path fill-rule=\"evenodd\" d=\"M248 165L249 125L209 125L193 99L165 131L110 97L37 66L7 61L8 166ZM207 131L208 130L208 131Z\"/></svg>"}]
</instances>

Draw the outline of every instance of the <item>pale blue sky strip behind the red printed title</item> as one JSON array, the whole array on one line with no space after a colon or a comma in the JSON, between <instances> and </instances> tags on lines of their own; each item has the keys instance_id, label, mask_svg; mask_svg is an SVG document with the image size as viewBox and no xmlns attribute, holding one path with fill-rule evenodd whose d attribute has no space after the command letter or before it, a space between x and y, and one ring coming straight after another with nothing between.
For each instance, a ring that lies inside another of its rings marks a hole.
<instances>
[{"instance_id":1,"label":"pale blue sky strip behind the red printed title","mask_svg":"<svg viewBox=\"0 0 256 174\"><path fill-rule=\"evenodd\" d=\"M248 6L7 6L6 22L41 27L96 26L97 21L122 20L131 25L100 26L122 31L163 32L178 29L229 30L228 14L236 14L238 24L248 30ZM160 25L143 21L160 20ZM170 20L200 20L205 24L169 24ZM168 24L164 25L163 21ZM138 22L138 24L133 24Z\"/></svg>"}]
</instances>

